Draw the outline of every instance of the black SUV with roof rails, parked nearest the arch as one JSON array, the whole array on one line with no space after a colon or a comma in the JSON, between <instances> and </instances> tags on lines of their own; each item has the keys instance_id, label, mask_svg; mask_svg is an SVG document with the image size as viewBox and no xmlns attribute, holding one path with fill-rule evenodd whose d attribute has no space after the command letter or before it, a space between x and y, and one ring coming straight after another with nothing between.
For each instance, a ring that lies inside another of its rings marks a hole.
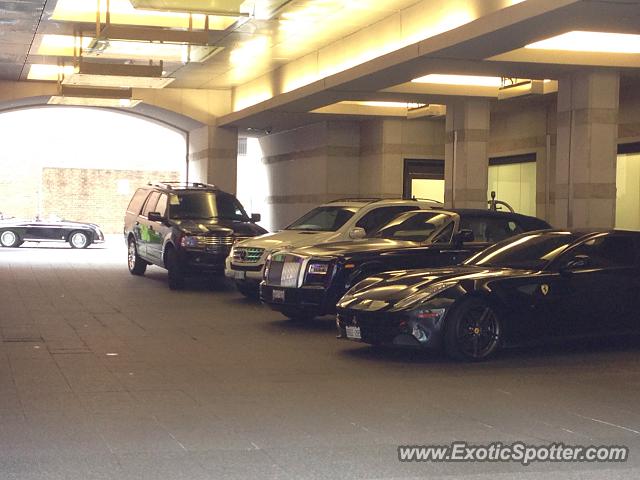
<instances>
[{"instance_id":1,"label":"black SUV with roof rails, parked nearest the arch","mask_svg":"<svg viewBox=\"0 0 640 480\"><path fill-rule=\"evenodd\" d=\"M144 275L147 265L169 271L169 288L184 288L190 274L224 273L234 242L266 230L249 217L230 193L204 183L164 182L139 188L124 221L129 271Z\"/></svg>"}]
</instances>

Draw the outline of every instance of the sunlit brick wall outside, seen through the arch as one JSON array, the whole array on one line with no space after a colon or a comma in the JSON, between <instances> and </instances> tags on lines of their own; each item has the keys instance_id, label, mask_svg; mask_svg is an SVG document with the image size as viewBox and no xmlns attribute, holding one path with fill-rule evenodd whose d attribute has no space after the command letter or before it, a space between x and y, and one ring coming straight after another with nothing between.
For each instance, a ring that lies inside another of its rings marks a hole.
<instances>
[{"instance_id":1,"label":"sunlit brick wall outside, seen through the arch","mask_svg":"<svg viewBox=\"0 0 640 480\"><path fill-rule=\"evenodd\" d=\"M97 223L105 233L121 233L124 212L136 188L150 181L179 179L178 172L45 167L42 215Z\"/></svg>"}]
</instances>

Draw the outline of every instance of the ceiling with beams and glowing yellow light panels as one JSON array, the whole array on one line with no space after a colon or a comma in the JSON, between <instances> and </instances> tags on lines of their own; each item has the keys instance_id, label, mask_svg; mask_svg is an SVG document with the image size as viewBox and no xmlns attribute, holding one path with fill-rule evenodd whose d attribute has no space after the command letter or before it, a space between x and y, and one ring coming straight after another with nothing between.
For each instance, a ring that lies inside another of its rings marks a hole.
<instances>
[{"instance_id":1,"label":"ceiling with beams and glowing yellow light panels","mask_svg":"<svg viewBox=\"0 0 640 480\"><path fill-rule=\"evenodd\" d=\"M275 130L398 114L380 102L497 99L505 80L536 80L545 94L581 68L633 77L638 25L638 0L0 0L0 80L56 82L89 61L102 76L84 79L101 86L117 65L152 61L166 88L232 90L220 125ZM628 48L529 48L576 31L626 35ZM434 74L501 83L412 81Z\"/></svg>"}]
</instances>

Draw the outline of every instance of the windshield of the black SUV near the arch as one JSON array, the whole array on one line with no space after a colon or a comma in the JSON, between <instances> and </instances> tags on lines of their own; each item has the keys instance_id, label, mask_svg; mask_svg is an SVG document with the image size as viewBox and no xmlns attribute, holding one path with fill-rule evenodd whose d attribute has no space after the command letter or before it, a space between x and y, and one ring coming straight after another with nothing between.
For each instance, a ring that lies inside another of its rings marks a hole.
<instances>
[{"instance_id":1,"label":"windshield of the black SUV near the arch","mask_svg":"<svg viewBox=\"0 0 640 480\"><path fill-rule=\"evenodd\" d=\"M233 195L219 192L170 194L169 218L174 220L220 219L249 221L244 208Z\"/></svg>"}]
</instances>

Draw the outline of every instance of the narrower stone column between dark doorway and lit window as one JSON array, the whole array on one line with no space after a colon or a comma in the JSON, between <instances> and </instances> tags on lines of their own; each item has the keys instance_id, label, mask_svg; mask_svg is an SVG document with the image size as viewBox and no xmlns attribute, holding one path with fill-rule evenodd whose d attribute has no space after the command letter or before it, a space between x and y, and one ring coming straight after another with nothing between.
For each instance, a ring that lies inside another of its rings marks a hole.
<instances>
[{"instance_id":1,"label":"narrower stone column between dark doorway and lit window","mask_svg":"<svg viewBox=\"0 0 640 480\"><path fill-rule=\"evenodd\" d=\"M489 101L461 99L447 104L445 204L487 208Z\"/></svg>"}]
</instances>

